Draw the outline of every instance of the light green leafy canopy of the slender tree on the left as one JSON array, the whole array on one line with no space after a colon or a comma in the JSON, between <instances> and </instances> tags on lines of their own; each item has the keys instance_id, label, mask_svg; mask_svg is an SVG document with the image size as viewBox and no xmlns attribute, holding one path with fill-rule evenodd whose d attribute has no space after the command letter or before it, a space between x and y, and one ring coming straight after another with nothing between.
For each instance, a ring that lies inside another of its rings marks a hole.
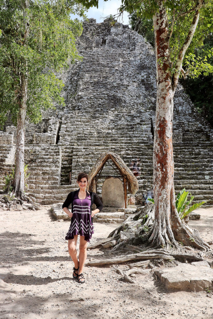
<instances>
[{"instance_id":1,"label":"light green leafy canopy of the slender tree on the left","mask_svg":"<svg viewBox=\"0 0 213 319\"><path fill-rule=\"evenodd\" d=\"M16 124L22 99L21 76L27 78L27 115L41 120L41 108L64 105L63 82L54 74L68 67L78 56L75 41L82 23L71 13L85 17L83 7L73 0L34 0L23 19L21 0L0 0L0 126L8 112ZM25 21L29 31L26 36Z\"/></svg>"}]
</instances>

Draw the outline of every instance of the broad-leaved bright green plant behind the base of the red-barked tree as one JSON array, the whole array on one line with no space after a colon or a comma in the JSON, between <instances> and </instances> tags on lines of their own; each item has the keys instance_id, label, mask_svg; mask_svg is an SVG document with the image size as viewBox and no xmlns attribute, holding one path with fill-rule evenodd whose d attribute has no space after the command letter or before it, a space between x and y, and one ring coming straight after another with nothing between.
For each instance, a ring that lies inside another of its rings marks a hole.
<instances>
[{"instance_id":1,"label":"broad-leaved bright green plant behind the base of the red-barked tree","mask_svg":"<svg viewBox=\"0 0 213 319\"><path fill-rule=\"evenodd\" d=\"M189 200L187 200L188 194L190 194ZM194 211L195 209L197 209L198 207L200 207L201 205L205 203L205 202L196 203L192 205L191 207L188 207L189 204L191 204L191 202L193 201L193 199L194 199L194 196L192 196L191 193L186 192L185 188L178 193L175 206L179 213L180 219L185 218L189 213L191 213L192 211Z\"/></svg>"}]
</instances>

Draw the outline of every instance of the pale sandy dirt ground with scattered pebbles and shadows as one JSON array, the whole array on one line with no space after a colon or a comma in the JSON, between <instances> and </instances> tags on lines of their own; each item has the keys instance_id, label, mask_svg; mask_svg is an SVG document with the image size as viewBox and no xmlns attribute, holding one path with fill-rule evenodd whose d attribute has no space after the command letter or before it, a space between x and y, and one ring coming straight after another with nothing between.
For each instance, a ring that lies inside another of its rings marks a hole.
<instances>
[{"instance_id":1,"label":"pale sandy dirt ground with scattered pebbles and shadows","mask_svg":"<svg viewBox=\"0 0 213 319\"><path fill-rule=\"evenodd\" d=\"M73 263L64 239L70 222L53 219L49 208L0 211L0 319L213 318L213 294L168 293L150 273L136 275L136 284L129 284L119 281L111 266L85 266L86 283L79 284L72 278ZM213 208L196 212L201 219L190 221L190 226L205 241L212 240ZM94 226L91 243L116 228ZM87 258L102 254L89 250Z\"/></svg>"}]
</instances>

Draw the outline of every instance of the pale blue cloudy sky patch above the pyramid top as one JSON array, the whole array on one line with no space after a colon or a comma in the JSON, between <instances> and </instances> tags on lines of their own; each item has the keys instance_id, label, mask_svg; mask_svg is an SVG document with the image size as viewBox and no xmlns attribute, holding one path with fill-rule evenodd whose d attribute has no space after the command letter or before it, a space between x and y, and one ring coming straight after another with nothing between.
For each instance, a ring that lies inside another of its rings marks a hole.
<instances>
[{"instance_id":1,"label":"pale blue cloudy sky patch above the pyramid top","mask_svg":"<svg viewBox=\"0 0 213 319\"><path fill-rule=\"evenodd\" d=\"M90 8L87 12L87 17L96 19L97 23L103 22L103 18L106 16L118 13L118 8L120 5L121 0L108 0L107 2L99 0L98 9L96 7ZM76 16L72 16L72 18L74 17L76 18ZM123 14L123 21L120 21L120 23L129 24L128 13L126 11Z\"/></svg>"}]
</instances>

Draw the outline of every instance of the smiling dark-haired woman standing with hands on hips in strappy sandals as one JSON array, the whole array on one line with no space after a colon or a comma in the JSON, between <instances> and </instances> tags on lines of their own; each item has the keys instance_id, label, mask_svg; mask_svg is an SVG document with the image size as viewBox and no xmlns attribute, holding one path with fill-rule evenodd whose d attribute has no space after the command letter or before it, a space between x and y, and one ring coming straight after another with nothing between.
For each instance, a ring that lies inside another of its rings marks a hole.
<instances>
[{"instance_id":1,"label":"smiling dark-haired woman standing with hands on hips in strappy sandals","mask_svg":"<svg viewBox=\"0 0 213 319\"><path fill-rule=\"evenodd\" d=\"M78 281L83 284L85 279L82 272L87 259L87 242L94 233L93 217L102 210L103 204L96 193L87 191L87 174L80 173L77 183L79 189L68 194L62 208L71 217L70 228L65 239L68 239L69 254L74 263L72 276L78 278ZM71 211L68 209L70 204L72 204ZM97 207L94 211L92 211L93 204ZM76 251L78 235L80 235L79 261Z\"/></svg>"}]
</instances>

